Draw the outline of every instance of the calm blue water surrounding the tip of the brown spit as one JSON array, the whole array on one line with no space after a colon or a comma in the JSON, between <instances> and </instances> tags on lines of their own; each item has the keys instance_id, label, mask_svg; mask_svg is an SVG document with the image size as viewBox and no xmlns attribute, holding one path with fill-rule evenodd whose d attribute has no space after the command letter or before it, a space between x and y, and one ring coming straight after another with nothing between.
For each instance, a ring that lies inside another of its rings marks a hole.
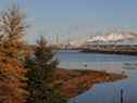
<instances>
[{"instance_id":1,"label":"calm blue water surrounding the tip of the brown spit","mask_svg":"<svg viewBox=\"0 0 137 103\"><path fill-rule=\"evenodd\" d=\"M121 89L124 90L124 103L137 103L137 69L124 69L126 66L136 68L137 56L79 52L58 52L57 56L62 68L86 68L111 73L124 70L128 75L125 80L95 85L90 90L72 99L70 103L121 103Z\"/></svg>"}]
</instances>

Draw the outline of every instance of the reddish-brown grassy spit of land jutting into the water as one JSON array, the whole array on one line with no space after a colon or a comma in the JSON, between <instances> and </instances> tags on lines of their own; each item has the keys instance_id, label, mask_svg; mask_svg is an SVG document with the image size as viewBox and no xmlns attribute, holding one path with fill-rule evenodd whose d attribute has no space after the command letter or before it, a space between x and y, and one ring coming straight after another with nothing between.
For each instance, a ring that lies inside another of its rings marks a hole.
<instances>
[{"instance_id":1,"label":"reddish-brown grassy spit of land jutting into the water","mask_svg":"<svg viewBox=\"0 0 137 103\"><path fill-rule=\"evenodd\" d=\"M124 78L127 78L127 76L89 69L58 69L52 86L58 88L63 95L71 99L89 90L95 83Z\"/></svg>"}]
</instances>

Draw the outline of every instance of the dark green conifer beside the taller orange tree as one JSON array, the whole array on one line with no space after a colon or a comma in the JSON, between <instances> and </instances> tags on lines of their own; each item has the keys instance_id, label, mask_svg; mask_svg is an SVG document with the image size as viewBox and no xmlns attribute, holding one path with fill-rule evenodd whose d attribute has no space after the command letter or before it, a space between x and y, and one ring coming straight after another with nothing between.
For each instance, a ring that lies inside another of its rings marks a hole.
<instances>
[{"instance_id":1,"label":"dark green conifer beside the taller orange tree","mask_svg":"<svg viewBox=\"0 0 137 103\"><path fill-rule=\"evenodd\" d=\"M41 37L37 42L33 59L27 60L26 64L26 67L30 68L28 103L66 103L66 100L50 86L55 75L58 61L45 38Z\"/></svg>"}]
</instances>

